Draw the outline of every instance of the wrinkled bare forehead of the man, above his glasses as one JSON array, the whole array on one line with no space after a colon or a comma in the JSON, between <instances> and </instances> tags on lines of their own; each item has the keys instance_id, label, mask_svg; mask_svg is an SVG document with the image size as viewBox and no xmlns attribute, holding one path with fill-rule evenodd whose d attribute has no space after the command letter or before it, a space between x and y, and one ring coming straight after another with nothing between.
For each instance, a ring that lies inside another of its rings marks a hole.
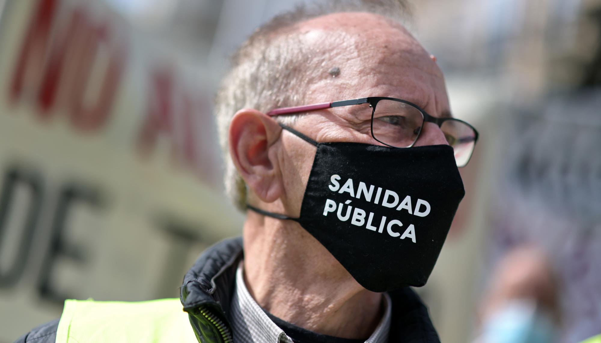
<instances>
[{"instance_id":1,"label":"wrinkled bare forehead of the man, above his glasses","mask_svg":"<svg viewBox=\"0 0 601 343\"><path fill-rule=\"evenodd\" d=\"M306 100L396 97L431 115L448 111L444 78L429 53L398 23L369 13L337 13L299 25L303 45L325 56ZM328 71L340 68L332 77Z\"/></svg>"}]
</instances>

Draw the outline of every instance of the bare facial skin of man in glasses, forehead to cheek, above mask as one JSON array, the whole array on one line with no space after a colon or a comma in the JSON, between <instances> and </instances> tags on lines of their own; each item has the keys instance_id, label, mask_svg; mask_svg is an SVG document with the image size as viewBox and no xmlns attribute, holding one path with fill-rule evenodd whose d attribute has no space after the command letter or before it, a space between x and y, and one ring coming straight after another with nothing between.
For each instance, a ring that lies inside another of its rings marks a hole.
<instances>
[{"instance_id":1,"label":"bare facial skin of man in glasses, forehead to cheek, above mask","mask_svg":"<svg viewBox=\"0 0 601 343\"><path fill-rule=\"evenodd\" d=\"M361 97L394 97L410 101L432 116L449 116L444 79L438 66L401 26L367 13L337 13L302 23L301 40L328 56L323 69L309 71L306 104ZM340 68L333 77L331 68ZM300 104L299 104L300 105ZM361 142L381 145L371 137L368 104L335 107L301 115L293 127L317 142ZM278 165L284 182L285 212L297 215L315 147L282 131ZM426 123L415 143L447 144L442 131ZM299 182L302 180L302 182Z\"/></svg>"}]
</instances>

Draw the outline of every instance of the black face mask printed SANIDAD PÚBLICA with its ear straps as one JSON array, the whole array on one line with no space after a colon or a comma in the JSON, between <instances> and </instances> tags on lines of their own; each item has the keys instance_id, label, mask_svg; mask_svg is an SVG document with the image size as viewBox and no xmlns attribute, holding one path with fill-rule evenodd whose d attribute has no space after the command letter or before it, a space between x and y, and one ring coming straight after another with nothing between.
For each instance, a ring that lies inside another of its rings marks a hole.
<instances>
[{"instance_id":1,"label":"black face mask printed SANIDAD P\u00daBLICA with its ear straps","mask_svg":"<svg viewBox=\"0 0 601 343\"><path fill-rule=\"evenodd\" d=\"M465 191L448 145L318 143L299 222L367 290L426 284Z\"/></svg>"}]
</instances>

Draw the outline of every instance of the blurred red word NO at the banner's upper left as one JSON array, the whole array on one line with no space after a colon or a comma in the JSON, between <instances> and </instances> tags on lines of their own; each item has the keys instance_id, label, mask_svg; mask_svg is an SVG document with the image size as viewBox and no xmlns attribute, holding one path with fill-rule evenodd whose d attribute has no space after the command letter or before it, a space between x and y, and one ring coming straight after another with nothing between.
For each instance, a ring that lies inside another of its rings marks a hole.
<instances>
[{"instance_id":1,"label":"blurred red word NO at the banner's upper left","mask_svg":"<svg viewBox=\"0 0 601 343\"><path fill-rule=\"evenodd\" d=\"M69 14L69 25L56 22L57 0L40 0L23 41L11 86L11 100L23 91L37 93L38 116L50 118L53 110L66 109L73 127L80 131L96 131L103 127L111 113L124 64L124 50L111 44L105 23L94 23L82 7ZM56 26L56 28L54 27ZM49 44L49 34L55 38ZM106 49L108 54L102 54ZM44 67L44 59L47 58ZM108 63L102 64L102 59ZM99 91L88 100L90 74L96 65L106 65ZM31 80L28 75L42 75Z\"/></svg>"}]
</instances>

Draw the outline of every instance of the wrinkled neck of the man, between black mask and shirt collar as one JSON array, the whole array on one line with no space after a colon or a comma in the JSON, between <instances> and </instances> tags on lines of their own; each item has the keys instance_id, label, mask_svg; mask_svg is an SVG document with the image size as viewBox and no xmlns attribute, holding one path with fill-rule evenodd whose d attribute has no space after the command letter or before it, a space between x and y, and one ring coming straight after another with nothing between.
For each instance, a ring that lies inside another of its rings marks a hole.
<instances>
[{"instance_id":1,"label":"wrinkled neck of the man, between black mask and shirt collar","mask_svg":"<svg viewBox=\"0 0 601 343\"><path fill-rule=\"evenodd\" d=\"M367 338L382 294L361 287L299 224L248 211L244 277L255 301L288 323L341 338Z\"/></svg>"}]
</instances>

